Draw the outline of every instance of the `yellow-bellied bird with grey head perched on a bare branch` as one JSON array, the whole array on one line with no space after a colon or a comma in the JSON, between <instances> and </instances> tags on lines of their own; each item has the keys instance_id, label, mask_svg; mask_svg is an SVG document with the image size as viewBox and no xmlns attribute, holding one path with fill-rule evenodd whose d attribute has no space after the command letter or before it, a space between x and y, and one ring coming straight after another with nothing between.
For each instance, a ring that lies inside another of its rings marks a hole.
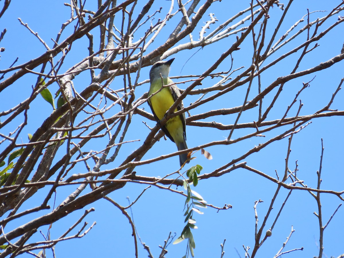
<instances>
[{"instance_id":1,"label":"yellow-bellied bird with grey head perched on a bare branch","mask_svg":"<svg viewBox=\"0 0 344 258\"><path fill-rule=\"evenodd\" d=\"M152 65L152 68L149 72L150 88L148 97L159 91L162 85L173 84L173 81L168 77L170 66L173 60L174 58L168 61L158 61ZM160 92L154 94L148 99L148 105L151 108L154 118L159 125L159 121L164 118L165 113L170 109L180 95L181 94L178 87L174 84L162 88ZM180 101L174 112L181 110L183 107L183 102ZM160 125L160 128L163 130L165 135L176 144L179 151L187 149L185 127L186 122L184 113L170 118L166 121L165 125ZM190 162L187 159L187 153L179 154L180 166L182 166L185 162Z\"/></svg>"}]
</instances>

